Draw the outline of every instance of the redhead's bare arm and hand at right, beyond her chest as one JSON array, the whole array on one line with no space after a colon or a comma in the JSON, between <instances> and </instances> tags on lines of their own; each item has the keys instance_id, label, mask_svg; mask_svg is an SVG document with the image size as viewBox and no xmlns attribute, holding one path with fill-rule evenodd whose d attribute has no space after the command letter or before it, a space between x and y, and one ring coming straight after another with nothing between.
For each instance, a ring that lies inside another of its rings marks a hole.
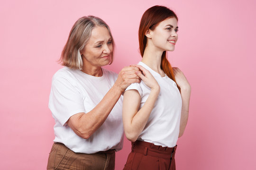
<instances>
[{"instance_id":1,"label":"redhead's bare arm and hand at right, beyond her chest","mask_svg":"<svg viewBox=\"0 0 256 170\"><path fill-rule=\"evenodd\" d=\"M182 97L182 111L181 111L181 122L180 122L180 133L179 137L183 136L185 131L185 127L188 122L189 115L189 101L191 94L191 86L184 76L183 72L179 68L174 69L174 76L177 84L181 88L181 97Z\"/></svg>"}]
</instances>

